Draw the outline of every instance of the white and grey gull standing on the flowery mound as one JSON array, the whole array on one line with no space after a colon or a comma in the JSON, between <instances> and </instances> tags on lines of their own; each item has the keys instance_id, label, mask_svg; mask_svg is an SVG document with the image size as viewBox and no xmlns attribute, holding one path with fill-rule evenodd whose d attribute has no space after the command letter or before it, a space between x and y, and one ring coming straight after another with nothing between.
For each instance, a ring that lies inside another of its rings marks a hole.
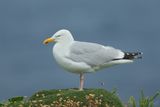
<instances>
[{"instance_id":1,"label":"white and grey gull standing on the flowery mound","mask_svg":"<svg viewBox=\"0 0 160 107\"><path fill-rule=\"evenodd\" d=\"M43 44L56 42L53 56L65 70L80 75L79 90L83 90L84 73L92 73L113 65L133 62L141 52L123 52L111 46L75 41L69 30L59 30Z\"/></svg>"}]
</instances>

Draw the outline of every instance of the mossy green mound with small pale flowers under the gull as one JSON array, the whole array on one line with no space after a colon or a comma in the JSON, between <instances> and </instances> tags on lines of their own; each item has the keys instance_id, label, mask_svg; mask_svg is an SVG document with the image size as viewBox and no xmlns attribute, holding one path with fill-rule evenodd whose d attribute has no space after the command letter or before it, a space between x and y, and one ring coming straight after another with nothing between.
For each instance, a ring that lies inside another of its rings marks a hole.
<instances>
[{"instance_id":1,"label":"mossy green mound with small pale flowers under the gull","mask_svg":"<svg viewBox=\"0 0 160 107\"><path fill-rule=\"evenodd\" d=\"M44 90L30 98L11 98L1 107L123 107L114 92L104 89Z\"/></svg>"}]
</instances>

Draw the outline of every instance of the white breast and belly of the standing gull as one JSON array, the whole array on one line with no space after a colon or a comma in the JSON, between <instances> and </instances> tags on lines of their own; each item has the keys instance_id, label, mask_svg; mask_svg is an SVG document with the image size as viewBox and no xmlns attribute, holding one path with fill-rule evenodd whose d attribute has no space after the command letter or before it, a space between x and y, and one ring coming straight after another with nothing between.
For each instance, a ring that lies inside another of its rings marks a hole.
<instances>
[{"instance_id":1,"label":"white breast and belly of the standing gull","mask_svg":"<svg viewBox=\"0 0 160 107\"><path fill-rule=\"evenodd\" d=\"M56 62L65 70L72 73L92 72L93 69L84 62L75 62L69 59L69 47L55 45L53 48L53 56Z\"/></svg>"}]
</instances>

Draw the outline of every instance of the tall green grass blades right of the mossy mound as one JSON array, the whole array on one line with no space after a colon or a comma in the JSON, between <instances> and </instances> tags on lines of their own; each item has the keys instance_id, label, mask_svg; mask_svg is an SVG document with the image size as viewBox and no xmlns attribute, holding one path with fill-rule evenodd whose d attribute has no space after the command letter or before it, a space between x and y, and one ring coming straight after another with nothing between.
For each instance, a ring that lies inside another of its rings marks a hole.
<instances>
[{"instance_id":1,"label":"tall green grass blades right of the mossy mound","mask_svg":"<svg viewBox=\"0 0 160 107\"><path fill-rule=\"evenodd\" d=\"M139 99L139 107L154 107L154 100L160 96L160 92L157 92L151 97L145 97L143 90L141 91L141 96ZM137 103L133 96L129 98L129 107L136 107Z\"/></svg>"}]
</instances>

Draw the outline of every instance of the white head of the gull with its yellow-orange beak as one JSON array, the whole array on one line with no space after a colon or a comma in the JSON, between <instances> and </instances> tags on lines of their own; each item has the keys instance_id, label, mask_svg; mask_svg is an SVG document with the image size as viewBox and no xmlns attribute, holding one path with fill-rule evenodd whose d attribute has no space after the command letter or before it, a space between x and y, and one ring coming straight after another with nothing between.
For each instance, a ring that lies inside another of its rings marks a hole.
<instances>
[{"instance_id":1,"label":"white head of the gull with its yellow-orange beak","mask_svg":"<svg viewBox=\"0 0 160 107\"><path fill-rule=\"evenodd\" d=\"M43 41L43 44L48 44L50 42L59 42L59 43L66 43L74 41L72 34L69 30L62 29L57 31L52 37L47 38Z\"/></svg>"}]
</instances>

